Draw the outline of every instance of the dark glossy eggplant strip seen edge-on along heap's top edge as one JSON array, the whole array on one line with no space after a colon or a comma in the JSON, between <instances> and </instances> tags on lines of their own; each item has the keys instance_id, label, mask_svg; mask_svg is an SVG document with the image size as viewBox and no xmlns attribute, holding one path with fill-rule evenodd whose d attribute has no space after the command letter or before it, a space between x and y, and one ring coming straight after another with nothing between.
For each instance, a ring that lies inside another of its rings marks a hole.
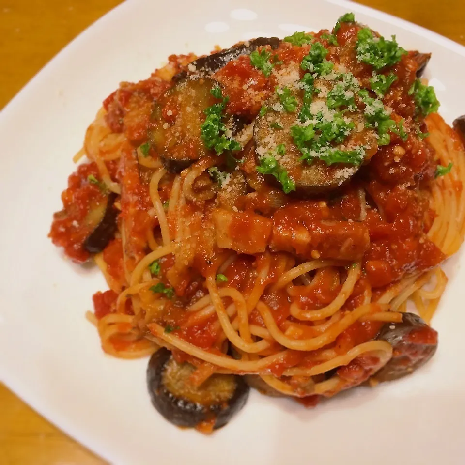
<instances>
[{"instance_id":1,"label":"dark glossy eggplant strip seen edge-on along heap's top edge","mask_svg":"<svg viewBox=\"0 0 465 465\"><path fill-rule=\"evenodd\" d=\"M217 53L212 53L206 57L194 60L189 64L186 71L178 73L176 76L174 76L173 80L176 82L186 78L186 76L191 74L211 76L230 61L235 60L241 55L249 55L254 50L256 50L257 47L269 45L271 48L275 49L278 48L280 44L281 39L278 37L259 37L242 44L235 45L231 48L226 48Z\"/></svg>"}]
</instances>

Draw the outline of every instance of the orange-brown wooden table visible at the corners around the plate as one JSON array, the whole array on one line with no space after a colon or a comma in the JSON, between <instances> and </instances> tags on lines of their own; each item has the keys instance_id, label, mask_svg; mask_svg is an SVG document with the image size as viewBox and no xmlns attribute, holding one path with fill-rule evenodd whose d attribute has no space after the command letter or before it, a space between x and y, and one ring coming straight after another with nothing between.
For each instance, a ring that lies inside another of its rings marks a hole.
<instances>
[{"instance_id":1,"label":"orange-brown wooden table visible at the corners around the plate","mask_svg":"<svg viewBox=\"0 0 465 465\"><path fill-rule=\"evenodd\" d=\"M120 0L1 0L0 108L62 47ZM465 45L464 0L360 0ZM0 463L97 465L84 449L0 384Z\"/></svg>"}]
</instances>

